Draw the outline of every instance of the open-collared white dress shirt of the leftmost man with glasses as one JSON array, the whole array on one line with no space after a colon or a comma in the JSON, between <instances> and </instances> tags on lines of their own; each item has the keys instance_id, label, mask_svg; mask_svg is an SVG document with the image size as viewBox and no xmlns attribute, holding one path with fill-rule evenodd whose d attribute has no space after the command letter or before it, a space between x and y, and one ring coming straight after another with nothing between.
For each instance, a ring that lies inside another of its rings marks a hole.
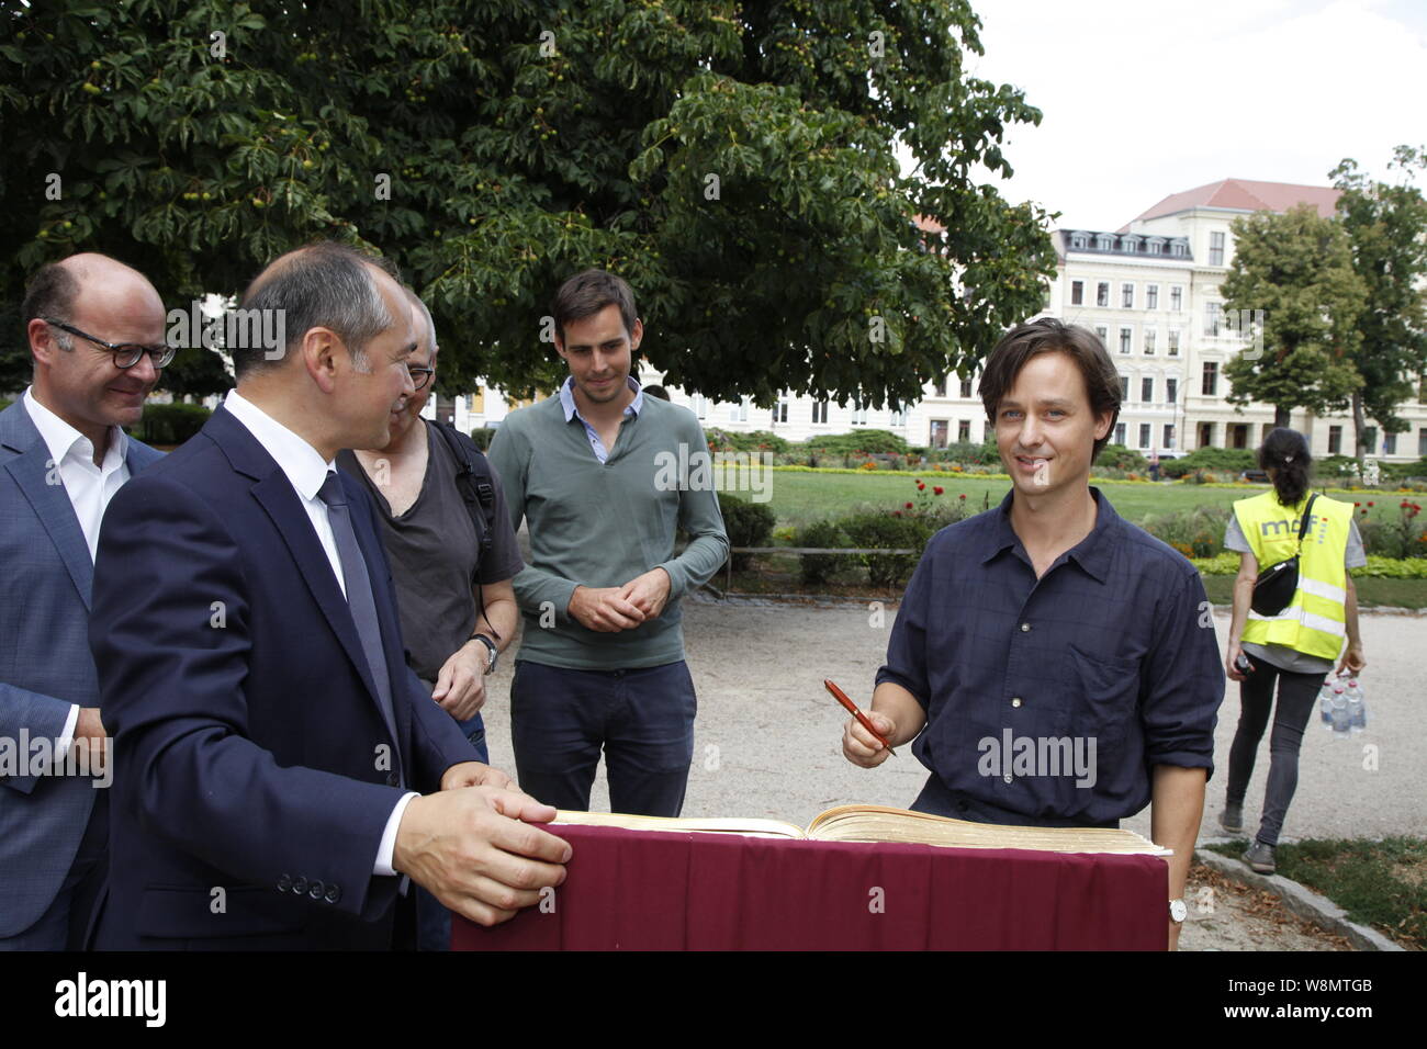
<instances>
[{"instance_id":1,"label":"open-collared white dress shirt of the leftmost man with glasses","mask_svg":"<svg viewBox=\"0 0 1427 1049\"><path fill-rule=\"evenodd\" d=\"M124 461L128 454L128 434L118 427L110 427L104 461L96 467L94 442L34 400L33 387L24 390L24 411L34 422L34 428L40 431L44 447L50 451L50 460L44 464L46 481L63 485L64 494L70 497L70 505L74 507L74 517L78 518L80 531L84 532L84 542L90 549L90 564L93 564L94 554L98 551L98 525L104 520L104 510L114 498L114 492L128 480L128 464ZM71 704L70 714L64 719L64 731L60 732L54 746L56 762L63 761L68 754L78 721L80 706Z\"/></svg>"}]
</instances>

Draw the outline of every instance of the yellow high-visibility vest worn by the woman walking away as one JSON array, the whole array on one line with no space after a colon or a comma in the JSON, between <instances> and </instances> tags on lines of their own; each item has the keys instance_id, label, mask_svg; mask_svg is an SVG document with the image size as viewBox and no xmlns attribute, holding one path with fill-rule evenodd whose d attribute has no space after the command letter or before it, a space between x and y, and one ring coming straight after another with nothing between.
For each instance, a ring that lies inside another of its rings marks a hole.
<instances>
[{"instance_id":1,"label":"yellow high-visibility vest worn by the woman walking away","mask_svg":"<svg viewBox=\"0 0 1427 1049\"><path fill-rule=\"evenodd\" d=\"M1234 517L1253 548L1260 572L1293 557L1299 548L1299 524L1310 495L1304 495L1296 507L1280 505L1271 490L1234 502ZM1243 641L1287 645L1304 655L1337 659L1347 637L1347 569L1343 568L1343 555L1351 524L1350 505L1319 495L1303 537L1299 589L1293 601L1277 615L1260 615L1250 608Z\"/></svg>"}]
</instances>

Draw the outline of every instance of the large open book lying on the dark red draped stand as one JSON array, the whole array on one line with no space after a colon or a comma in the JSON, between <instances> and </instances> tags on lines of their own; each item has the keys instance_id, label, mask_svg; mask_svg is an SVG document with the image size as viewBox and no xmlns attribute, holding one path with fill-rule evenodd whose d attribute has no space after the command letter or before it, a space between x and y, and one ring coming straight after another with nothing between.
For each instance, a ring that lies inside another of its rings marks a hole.
<instances>
[{"instance_id":1,"label":"large open book lying on the dark red draped stand","mask_svg":"<svg viewBox=\"0 0 1427 1049\"><path fill-rule=\"evenodd\" d=\"M622 812L569 812L557 824L622 826L626 831L696 831L751 838L805 838L822 842L905 842L956 849L1045 849L1049 852L1124 852L1167 856L1133 831L1097 826L997 826L909 812L885 805L839 805L821 814L808 829L781 819L631 816Z\"/></svg>"}]
</instances>

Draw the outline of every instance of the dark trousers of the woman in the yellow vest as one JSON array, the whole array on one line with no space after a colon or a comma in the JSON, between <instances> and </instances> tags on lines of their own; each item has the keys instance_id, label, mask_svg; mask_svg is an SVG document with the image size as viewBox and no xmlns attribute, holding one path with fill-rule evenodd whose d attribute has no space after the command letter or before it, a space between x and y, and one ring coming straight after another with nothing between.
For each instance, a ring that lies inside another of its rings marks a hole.
<instances>
[{"instance_id":1,"label":"dark trousers of the woman in the yellow vest","mask_svg":"<svg viewBox=\"0 0 1427 1049\"><path fill-rule=\"evenodd\" d=\"M1273 718L1273 735L1269 736L1269 786L1263 796L1263 816L1257 839L1264 845L1277 845L1283 831L1283 818L1289 815L1289 802L1299 786L1299 746L1303 731L1313 714L1313 702L1323 686L1321 674L1294 674L1257 659L1247 652L1244 657L1253 669L1239 682L1239 729L1229 749L1229 788L1226 799L1230 805L1243 805L1253 775L1254 754L1263 729L1269 724L1273 708L1273 684L1279 681L1279 709Z\"/></svg>"}]
</instances>

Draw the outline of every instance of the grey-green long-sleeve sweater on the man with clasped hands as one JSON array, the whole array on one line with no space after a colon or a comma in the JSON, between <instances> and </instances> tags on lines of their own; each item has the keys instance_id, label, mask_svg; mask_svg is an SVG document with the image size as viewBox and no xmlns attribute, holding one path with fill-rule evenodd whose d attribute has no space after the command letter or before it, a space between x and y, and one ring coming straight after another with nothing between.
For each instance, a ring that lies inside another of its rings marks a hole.
<instances>
[{"instance_id":1,"label":"grey-green long-sleeve sweater on the man with clasped hands","mask_svg":"<svg viewBox=\"0 0 1427 1049\"><path fill-rule=\"evenodd\" d=\"M684 658L681 598L728 558L711 484L708 442L688 408L644 398L626 415L606 462L559 397L511 412L491 442L511 525L529 522L531 561L515 577L525 617L518 659L577 669L659 667ZM704 464L702 470L699 464ZM689 545L678 557L678 528ZM669 599L652 621L616 634L569 615L575 587L622 587L651 568L669 574Z\"/></svg>"}]
</instances>

